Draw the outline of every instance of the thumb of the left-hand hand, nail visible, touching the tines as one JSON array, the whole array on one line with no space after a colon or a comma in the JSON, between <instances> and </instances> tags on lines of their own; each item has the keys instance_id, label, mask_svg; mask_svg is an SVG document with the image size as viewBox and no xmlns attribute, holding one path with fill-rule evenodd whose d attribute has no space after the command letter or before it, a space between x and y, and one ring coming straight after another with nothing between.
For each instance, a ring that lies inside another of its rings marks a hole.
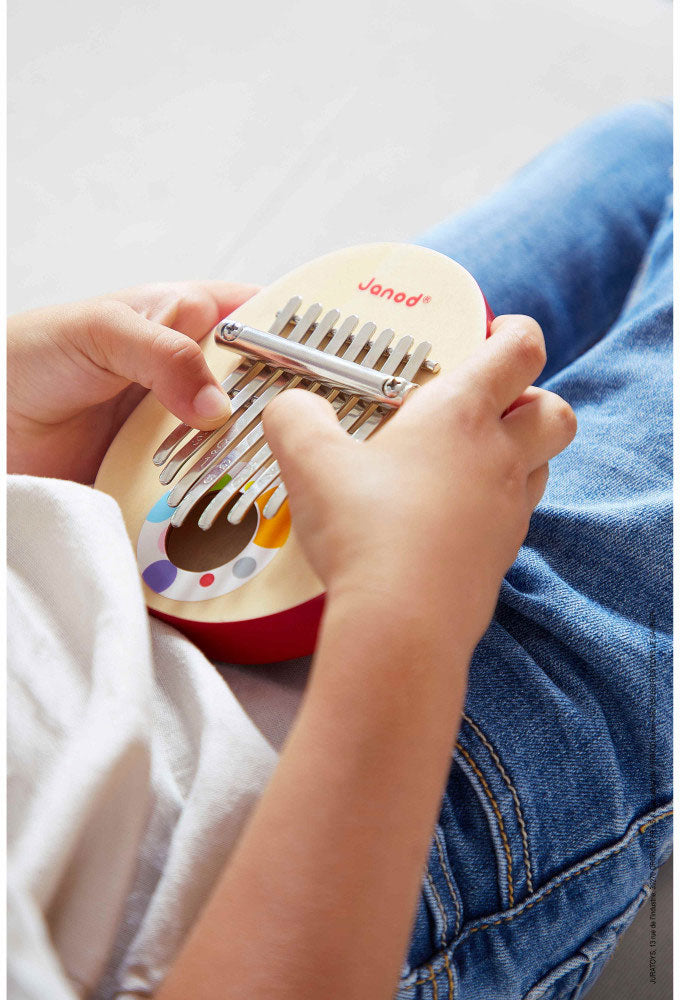
<instances>
[{"instance_id":1,"label":"thumb of the left-hand hand, nail visible, touching the tines","mask_svg":"<svg viewBox=\"0 0 680 1000\"><path fill-rule=\"evenodd\" d=\"M79 346L90 360L150 389L192 427L207 430L227 420L229 399L190 337L121 302L100 303L88 320Z\"/></svg>"}]
</instances>

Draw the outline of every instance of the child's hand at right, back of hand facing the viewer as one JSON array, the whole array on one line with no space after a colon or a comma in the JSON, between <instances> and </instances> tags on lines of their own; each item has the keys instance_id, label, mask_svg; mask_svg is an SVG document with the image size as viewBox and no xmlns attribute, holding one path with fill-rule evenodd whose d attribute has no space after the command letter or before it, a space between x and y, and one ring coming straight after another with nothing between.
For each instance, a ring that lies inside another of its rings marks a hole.
<instances>
[{"instance_id":1,"label":"child's hand at right, back of hand facing the viewer","mask_svg":"<svg viewBox=\"0 0 680 1000\"><path fill-rule=\"evenodd\" d=\"M401 620L427 609L470 653L543 495L548 459L576 432L571 407L531 387L545 364L537 323L502 316L492 333L365 443L309 392L282 393L264 415L296 532L331 597L383 594Z\"/></svg>"}]
</instances>

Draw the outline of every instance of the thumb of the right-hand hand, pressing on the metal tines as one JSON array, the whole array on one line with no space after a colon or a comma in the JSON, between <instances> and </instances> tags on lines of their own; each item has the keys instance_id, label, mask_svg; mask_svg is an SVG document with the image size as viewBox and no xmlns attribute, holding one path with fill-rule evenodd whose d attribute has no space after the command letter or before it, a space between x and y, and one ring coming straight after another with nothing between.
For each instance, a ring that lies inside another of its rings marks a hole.
<instances>
[{"instance_id":1,"label":"thumb of the right-hand hand, pressing on the metal tines","mask_svg":"<svg viewBox=\"0 0 680 1000\"><path fill-rule=\"evenodd\" d=\"M347 435L335 410L322 396L305 389L288 389L267 405L264 432L294 502L299 490L323 475L329 452L342 448Z\"/></svg>"}]
</instances>

